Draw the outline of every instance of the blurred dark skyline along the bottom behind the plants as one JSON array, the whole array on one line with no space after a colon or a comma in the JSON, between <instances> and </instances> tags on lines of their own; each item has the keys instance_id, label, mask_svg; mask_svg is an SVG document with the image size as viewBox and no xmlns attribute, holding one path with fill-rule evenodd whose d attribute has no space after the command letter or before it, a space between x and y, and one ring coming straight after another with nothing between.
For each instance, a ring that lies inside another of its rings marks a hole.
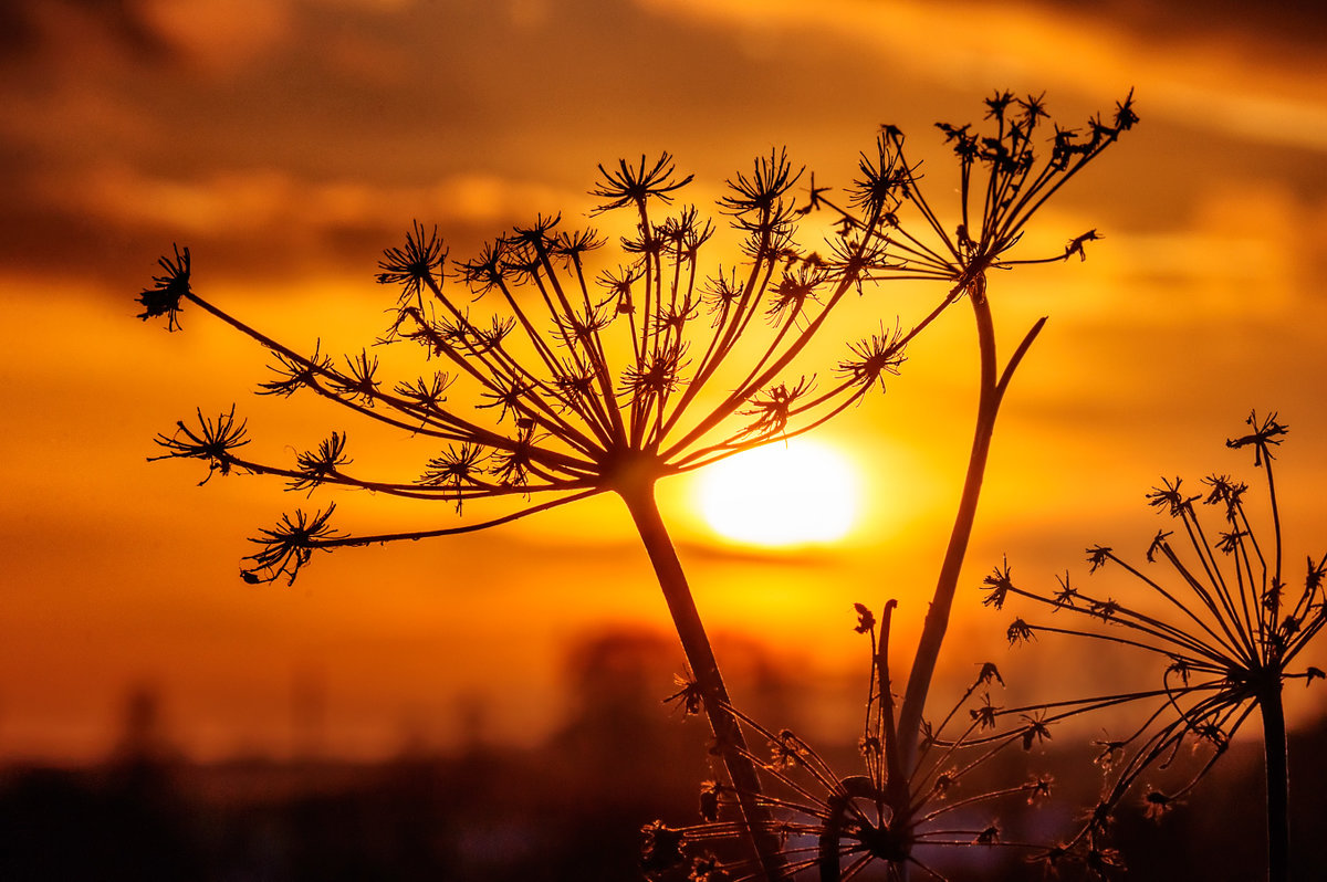
<instances>
[{"instance_id":1,"label":"blurred dark skyline along the bottom behind the plants","mask_svg":"<svg viewBox=\"0 0 1327 882\"><path fill-rule=\"evenodd\" d=\"M733 680L756 706L752 715L796 725L786 714L795 706L787 678L758 651L723 649L734 659ZM678 664L675 647L661 635L598 634L568 657L569 719L545 744L511 749L476 739L443 756L417 743L382 763L338 761L321 748L295 759L188 763L171 747L161 698L135 688L104 763L0 771L0 879L638 878L641 825L694 821L698 784L713 775L703 722L662 703L675 690ZM828 759L852 772L855 733L845 736ZM321 736L304 744L320 745ZM1052 806L1001 818L1005 829L1039 841L1054 840L1100 785L1087 745L1051 741L1050 748L1035 761L1055 776ZM1294 737L1291 768L1295 878L1327 878L1327 855L1318 848L1327 818L1320 787L1327 725ZM1257 745L1239 743L1192 805L1156 822L1143 817L1140 804L1117 828L1127 878L1259 878L1261 793ZM955 882L1039 878L1039 869L999 854L959 851L947 871Z\"/></svg>"}]
</instances>

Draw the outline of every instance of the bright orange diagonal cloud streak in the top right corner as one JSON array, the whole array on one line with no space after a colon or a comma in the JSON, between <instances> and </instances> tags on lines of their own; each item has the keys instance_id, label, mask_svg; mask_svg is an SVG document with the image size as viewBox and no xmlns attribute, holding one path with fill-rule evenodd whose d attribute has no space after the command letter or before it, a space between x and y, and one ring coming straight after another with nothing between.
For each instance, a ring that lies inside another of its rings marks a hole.
<instances>
[{"instance_id":1,"label":"bright orange diagonal cloud streak in the top right corner","mask_svg":"<svg viewBox=\"0 0 1327 882\"><path fill-rule=\"evenodd\" d=\"M1100 102L1137 84L1148 111L1249 141L1327 153L1327 77L1304 76L1304 62L1314 62L1320 46L1287 44L1279 32L1233 25L1141 32L1124 15L1087 19L1046 5L638 1L660 15L738 28L751 37L748 45L770 31L808 41L829 33L885 64L953 86L1035 77Z\"/></svg>"}]
</instances>

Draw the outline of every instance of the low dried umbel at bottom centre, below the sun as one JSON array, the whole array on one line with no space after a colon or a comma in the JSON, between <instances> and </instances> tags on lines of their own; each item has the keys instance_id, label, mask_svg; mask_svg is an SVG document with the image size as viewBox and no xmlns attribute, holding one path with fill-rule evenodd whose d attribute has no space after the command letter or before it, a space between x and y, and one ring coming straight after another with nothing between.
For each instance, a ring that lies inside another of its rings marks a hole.
<instances>
[{"instance_id":1,"label":"low dried umbel at bottom centre, below the sun","mask_svg":"<svg viewBox=\"0 0 1327 882\"><path fill-rule=\"evenodd\" d=\"M867 714L857 741L863 773L840 776L807 741L790 729L766 728L740 711L734 715L751 732L751 741L768 744L770 759L751 755L778 784L755 794L768 809L768 832L786 859L783 878L815 877L821 882L852 879L868 867L884 866L885 877L904 878L918 867L943 878L929 857L943 849L1001 848L1040 859L1043 845L1005 837L994 814L998 805L1030 805L1051 793L1051 779L1031 776L1007 787L974 785L973 775L1018 745L1031 751L1050 737L1043 720L1022 718L1007 731L997 729L999 708L990 690L1005 680L987 662L971 686L936 724L925 724L917 764L905 771L890 692L889 625L896 606L885 605L877 639L876 617L857 603L859 634L871 635ZM981 692L978 698L978 692ZM706 781L701 789L701 822L671 828L656 821L642 829L642 865L666 874L690 865L691 878L740 882L759 877L746 859L722 861L713 849L744 836L740 816L727 817L739 794ZM982 812L983 820L973 821ZM721 849L722 850L722 849Z\"/></svg>"}]
</instances>

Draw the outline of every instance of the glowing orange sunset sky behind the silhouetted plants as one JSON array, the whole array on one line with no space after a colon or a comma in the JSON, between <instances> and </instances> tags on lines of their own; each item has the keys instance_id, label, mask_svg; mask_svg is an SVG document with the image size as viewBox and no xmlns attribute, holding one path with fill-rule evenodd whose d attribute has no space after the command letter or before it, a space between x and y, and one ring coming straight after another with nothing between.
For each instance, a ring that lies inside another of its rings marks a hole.
<instances>
[{"instance_id":1,"label":"glowing orange sunset sky behind the silhouetted plants","mask_svg":"<svg viewBox=\"0 0 1327 882\"><path fill-rule=\"evenodd\" d=\"M494 736L528 743L556 724L568 639L666 627L612 500L321 556L293 588L243 585L244 537L295 500L253 477L196 488L191 464L145 462L153 435L195 406L238 402L281 456L341 416L255 399L265 359L203 316L186 314L182 334L134 320L171 243L190 245L195 283L234 312L293 342L353 349L387 305L378 255L415 218L466 257L537 212L585 223L594 164L658 150L695 172L689 198L702 206L776 145L841 184L882 122L945 170L932 123L975 121L997 88L1046 90L1070 123L1133 88L1143 125L1024 243L1044 253L1095 227L1091 259L993 281L1006 347L1038 316L1051 321L1002 412L965 584L1006 552L1050 578L1088 544L1145 541L1156 523L1143 493L1158 475L1246 470L1221 442L1251 407L1279 410L1294 432L1281 472L1303 535L1291 553L1323 550L1311 528L1327 485L1324 13L1124 0L1091 13L1051 0L999 12L868 0L31 5L0 8L0 756L97 755L138 683L161 690L199 756L285 751L292 691L311 679L333 749L390 751L407 729L446 743L475 698ZM898 297L902 310L925 302ZM874 326L894 308L853 316ZM909 645L970 434L969 334L966 314L947 317L886 397L825 430L867 466L869 517L849 542L726 548L686 485L669 488L714 631L856 671L851 603L897 594ZM398 528L439 516L344 504ZM973 641L991 625L975 597L955 623ZM989 630L989 651L1003 653Z\"/></svg>"}]
</instances>

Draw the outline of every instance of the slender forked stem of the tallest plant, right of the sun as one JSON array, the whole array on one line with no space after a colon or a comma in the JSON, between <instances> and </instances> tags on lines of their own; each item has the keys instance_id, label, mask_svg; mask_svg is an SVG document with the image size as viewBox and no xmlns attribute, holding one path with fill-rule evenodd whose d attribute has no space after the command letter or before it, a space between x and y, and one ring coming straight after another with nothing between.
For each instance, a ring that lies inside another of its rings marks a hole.
<instances>
[{"instance_id":1,"label":"slender forked stem of the tallest plant, right of the sun","mask_svg":"<svg viewBox=\"0 0 1327 882\"><path fill-rule=\"evenodd\" d=\"M967 475L963 479L963 493L958 501L958 513L954 517L954 527L949 535L949 546L945 549L945 560L940 568L940 578L936 584L936 594L932 597L930 609L926 611L926 621L922 626L921 639L917 645L917 655L913 661L912 671L908 675L908 690L904 692L904 702L898 711L898 740L902 767L910 773L917 761L917 741L921 735L922 711L926 704L926 694L930 690L932 675L936 672L936 663L940 658L940 647L945 642L945 631L949 627L949 613L954 602L954 593L958 589L958 576L963 568L963 557L967 553L967 541L973 535L973 523L977 519L977 503L982 492L982 477L986 473L986 460L990 454L991 435L995 431L995 415L999 410L999 401L1009 379L1006 375L997 379L995 371L995 328L991 318L990 301L985 292L970 292L969 300L973 304L977 320L977 341L981 357L981 395L977 403L977 427L973 434L973 448L967 456ZM1040 325L1034 328L1035 334ZM1024 344L1030 342L1024 341ZM1026 345L1020 351L1026 350ZM1010 367L1014 362L1010 362Z\"/></svg>"}]
</instances>

